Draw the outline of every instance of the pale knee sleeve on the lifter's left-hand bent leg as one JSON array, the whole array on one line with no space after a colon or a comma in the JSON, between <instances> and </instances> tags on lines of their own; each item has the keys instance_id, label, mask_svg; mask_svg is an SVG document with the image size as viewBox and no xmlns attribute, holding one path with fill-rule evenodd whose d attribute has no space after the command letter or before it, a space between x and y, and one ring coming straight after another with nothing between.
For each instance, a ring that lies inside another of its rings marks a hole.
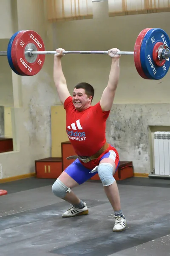
<instances>
[{"instance_id":1,"label":"pale knee sleeve on the lifter's left-hand bent leg","mask_svg":"<svg viewBox=\"0 0 170 256\"><path fill-rule=\"evenodd\" d=\"M59 180L59 178L54 182L53 186L52 186L52 192L54 195L56 195L59 198L64 198L66 193L70 193L71 189L68 188L67 186L65 186L64 183L62 183L61 180Z\"/></svg>"}]
</instances>

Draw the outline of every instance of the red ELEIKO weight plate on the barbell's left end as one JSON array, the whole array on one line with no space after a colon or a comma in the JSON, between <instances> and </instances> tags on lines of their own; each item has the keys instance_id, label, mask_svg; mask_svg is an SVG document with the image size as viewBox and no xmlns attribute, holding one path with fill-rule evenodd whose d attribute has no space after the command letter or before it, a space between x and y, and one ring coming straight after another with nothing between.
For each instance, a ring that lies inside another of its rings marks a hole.
<instances>
[{"instance_id":1,"label":"red ELEIKO weight plate on the barbell's left end","mask_svg":"<svg viewBox=\"0 0 170 256\"><path fill-rule=\"evenodd\" d=\"M20 32L14 39L11 47L12 62L16 70L26 76L34 76L40 72L45 61L45 54L32 57L25 55L25 50L34 48L35 51L45 51L42 38L33 30Z\"/></svg>"}]
</instances>

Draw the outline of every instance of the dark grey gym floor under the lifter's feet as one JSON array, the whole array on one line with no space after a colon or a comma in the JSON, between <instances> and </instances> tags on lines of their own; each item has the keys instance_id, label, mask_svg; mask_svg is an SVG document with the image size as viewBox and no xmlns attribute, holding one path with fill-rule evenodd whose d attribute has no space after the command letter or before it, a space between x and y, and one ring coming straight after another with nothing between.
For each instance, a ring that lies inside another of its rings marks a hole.
<instances>
[{"instance_id":1,"label":"dark grey gym floor under the lifter's feet","mask_svg":"<svg viewBox=\"0 0 170 256\"><path fill-rule=\"evenodd\" d=\"M127 229L112 231L113 210L100 181L73 189L89 214L62 218L70 205L51 192L55 180L35 177L0 184L0 256L168 256L170 180L117 182ZM112 217L111 217L112 216Z\"/></svg>"}]
</instances>

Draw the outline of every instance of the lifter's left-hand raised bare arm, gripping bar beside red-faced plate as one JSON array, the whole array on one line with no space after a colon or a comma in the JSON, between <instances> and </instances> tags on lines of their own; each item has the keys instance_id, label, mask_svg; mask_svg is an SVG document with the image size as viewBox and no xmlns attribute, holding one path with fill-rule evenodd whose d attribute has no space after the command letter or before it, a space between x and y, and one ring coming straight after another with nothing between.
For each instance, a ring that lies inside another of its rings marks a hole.
<instances>
[{"instance_id":1,"label":"lifter's left-hand raised bare arm, gripping bar beside red-faced plate","mask_svg":"<svg viewBox=\"0 0 170 256\"><path fill-rule=\"evenodd\" d=\"M67 99L70 96L70 93L67 88L65 76L62 72L62 51L64 51L64 49L59 48L56 50L57 53L54 55L54 83L57 88L60 102L64 104L65 99Z\"/></svg>"}]
</instances>

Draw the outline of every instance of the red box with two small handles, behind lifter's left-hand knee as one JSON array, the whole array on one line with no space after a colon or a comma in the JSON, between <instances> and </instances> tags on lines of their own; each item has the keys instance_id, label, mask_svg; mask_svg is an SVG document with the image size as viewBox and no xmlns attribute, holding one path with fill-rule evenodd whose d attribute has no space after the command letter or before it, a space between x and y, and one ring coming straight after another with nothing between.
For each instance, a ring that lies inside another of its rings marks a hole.
<instances>
[{"instance_id":1,"label":"red box with two small handles, behind lifter's left-hand knee","mask_svg":"<svg viewBox=\"0 0 170 256\"><path fill-rule=\"evenodd\" d=\"M48 157L35 160L35 172L37 178L57 179L62 173L62 158Z\"/></svg>"}]
</instances>

